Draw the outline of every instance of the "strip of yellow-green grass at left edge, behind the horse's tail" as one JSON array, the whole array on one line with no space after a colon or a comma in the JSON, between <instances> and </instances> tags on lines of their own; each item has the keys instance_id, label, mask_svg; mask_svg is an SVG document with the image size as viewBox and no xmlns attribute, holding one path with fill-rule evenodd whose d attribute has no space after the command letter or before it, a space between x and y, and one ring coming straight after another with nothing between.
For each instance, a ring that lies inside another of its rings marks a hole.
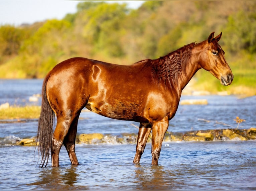
<instances>
[{"instance_id":1,"label":"strip of yellow-green grass at left edge, behind the horse's tail","mask_svg":"<svg viewBox=\"0 0 256 191\"><path fill-rule=\"evenodd\" d=\"M35 119L40 115L40 106L24 106L0 109L0 120L3 119Z\"/></svg>"}]
</instances>

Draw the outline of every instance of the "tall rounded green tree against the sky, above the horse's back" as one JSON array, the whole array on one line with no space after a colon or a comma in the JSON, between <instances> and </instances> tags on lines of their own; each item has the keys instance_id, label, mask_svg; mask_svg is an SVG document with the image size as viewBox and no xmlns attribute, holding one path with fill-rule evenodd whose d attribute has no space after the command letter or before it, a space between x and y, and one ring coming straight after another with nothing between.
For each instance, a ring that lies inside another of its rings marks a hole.
<instances>
[{"instance_id":1,"label":"tall rounded green tree against the sky, above the horse's back","mask_svg":"<svg viewBox=\"0 0 256 191\"><path fill-rule=\"evenodd\" d=\"M83 30L85 41L94 45L94 52L104 51L111 56L122 56L120 38L124 32L126 4L101 3L87 10L87 24Z\"/></svg>"}]
</instances>

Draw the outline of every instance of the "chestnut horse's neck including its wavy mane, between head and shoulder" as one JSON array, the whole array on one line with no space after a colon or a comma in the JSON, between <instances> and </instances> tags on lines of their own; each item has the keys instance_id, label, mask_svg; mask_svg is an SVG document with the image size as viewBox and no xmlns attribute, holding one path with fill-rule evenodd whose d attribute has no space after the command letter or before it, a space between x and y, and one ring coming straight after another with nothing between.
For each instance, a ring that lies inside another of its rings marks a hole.
<instances>
[{"instance_id":1,"label":"chestnut horse's neck including its wavy mane, between head and shoulder","mask_svg":"<svg viewBox=\"0 0 256 191\"><path fill-rule=\"evenodd\" d=\"M197 58L201 50L195 48L193 51L194 46L195 43L191 43L159 59L146 60L147 64L151 63L153 81L162 83L171 92L176 90L181 95L181 91L200 69Z\"/></svg>"}]
</instances>

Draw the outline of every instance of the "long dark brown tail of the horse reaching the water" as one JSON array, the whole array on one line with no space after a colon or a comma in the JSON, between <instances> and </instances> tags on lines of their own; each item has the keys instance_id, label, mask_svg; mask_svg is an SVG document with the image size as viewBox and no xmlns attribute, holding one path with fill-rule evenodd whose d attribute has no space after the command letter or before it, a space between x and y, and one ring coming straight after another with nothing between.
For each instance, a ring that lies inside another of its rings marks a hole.
<instances>
[{"instance_id":1,"label":"long dark brown tail of the horse reaching the water","mask_svg":"<svg viewBox=\"0 0 256 191\"><path fill-rule=\"evenodd\" d=\"M37 142L38 152L41 153L41 163L39 166L46 167L52 147L52 134L54 123L54 112L46 97L46 84L50 75L47 75L42 86L41 113L38 120Z\"/></svg>"}]
</instances>

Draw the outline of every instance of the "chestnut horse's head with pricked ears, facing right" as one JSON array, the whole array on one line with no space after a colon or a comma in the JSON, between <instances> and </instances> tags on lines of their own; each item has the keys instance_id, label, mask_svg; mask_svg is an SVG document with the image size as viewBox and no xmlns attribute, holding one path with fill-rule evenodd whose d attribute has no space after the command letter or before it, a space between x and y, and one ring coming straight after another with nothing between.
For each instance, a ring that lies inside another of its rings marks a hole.
<instances>
[{"instance_id":1,"label":"chestnut horse's head with pricked ears, facing right","mask_svg":"<svg viewBox=\"0 0 256 191\"><path fill-rule=\"evenodd\" d=\"M199 54L199 64L203 69L219 79L222 85L228 86L233 81L233 74L224 57L225 52L218 43L221 35L222 33L214 38L213 32L208 37L208 40L199 43L203 49Z\"/></svg>"}]
</instances>

